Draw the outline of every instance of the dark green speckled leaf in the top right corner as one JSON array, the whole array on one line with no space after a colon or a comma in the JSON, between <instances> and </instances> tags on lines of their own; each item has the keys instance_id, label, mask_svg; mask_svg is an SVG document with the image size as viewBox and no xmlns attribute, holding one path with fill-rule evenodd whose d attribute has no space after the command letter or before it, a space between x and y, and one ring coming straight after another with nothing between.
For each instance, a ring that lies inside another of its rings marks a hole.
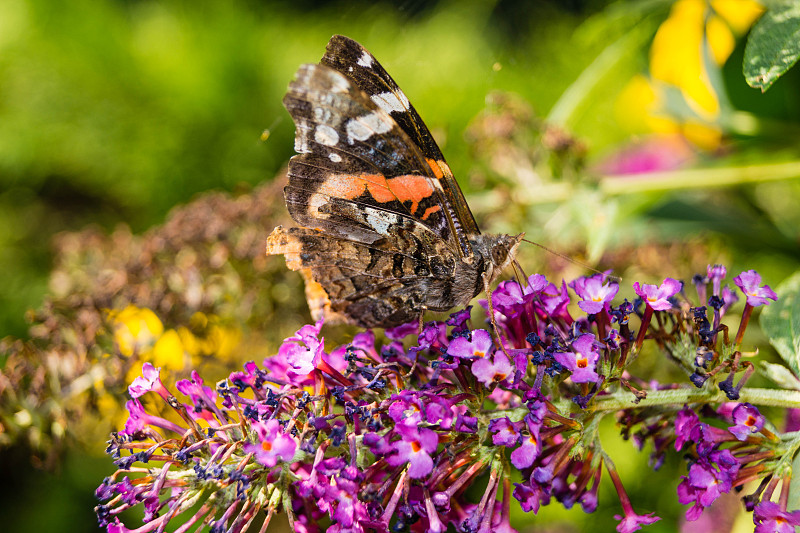
<instances>
[{"instance_id":1,"label":"dark green speckled leaf in the top right corner","mask_svg":"<svg viewBox=\"0 0 800 533\"><path fill-rule=\"evenodd\" d=\"M800 3L770 5L758 19L744 49L744 78L766 91L800 57Z\"/></svg>"}]
</instances>

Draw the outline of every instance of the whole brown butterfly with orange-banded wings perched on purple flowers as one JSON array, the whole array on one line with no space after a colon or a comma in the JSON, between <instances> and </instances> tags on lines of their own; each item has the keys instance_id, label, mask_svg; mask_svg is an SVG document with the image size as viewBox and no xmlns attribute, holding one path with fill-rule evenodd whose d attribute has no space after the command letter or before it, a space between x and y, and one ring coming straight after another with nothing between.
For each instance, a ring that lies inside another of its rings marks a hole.
<instances>
[{"instance_id":1,"label":"whole brown butterfly with orange-banded wings perched on purple flowers","mask_svg":"<svg viewBox=\"0 0 800 533\"><path fill-rule=\"evenodd\" d=\"M334 36L284 98L296 125L286 205L275 228L306 280L312 315L392 327L466 305L513 258L521 236L478 230L444 157L372 55Z\"/></svg>"}]
</instances>

